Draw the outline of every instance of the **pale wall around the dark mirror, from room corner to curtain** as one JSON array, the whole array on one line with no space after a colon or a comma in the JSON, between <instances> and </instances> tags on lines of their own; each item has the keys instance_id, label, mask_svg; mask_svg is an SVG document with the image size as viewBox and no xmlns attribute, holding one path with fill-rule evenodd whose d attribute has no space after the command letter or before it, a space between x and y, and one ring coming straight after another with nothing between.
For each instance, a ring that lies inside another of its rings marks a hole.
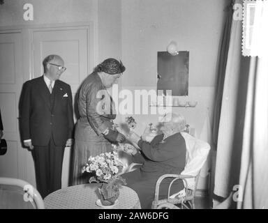
<instances>
[{"instance_id":1,"label":"pale wall around the dark mirror, from room corner to curtain","mask_svg":"<svg viewBox=\"0 0 268 223\"><path fill-rule=\"evenodd\" d=\"M170 41L176 41L179 50L190 52L189 96L180 98L198 101L195 112L186 114L186 119L200 134L207 107L212 116L218 47L227 3L223 0L122 1L124 89L147 86L156 90L157 52L166 51ZM185 114L181 109L175 112Z\"/></svg>"}]
</instances>

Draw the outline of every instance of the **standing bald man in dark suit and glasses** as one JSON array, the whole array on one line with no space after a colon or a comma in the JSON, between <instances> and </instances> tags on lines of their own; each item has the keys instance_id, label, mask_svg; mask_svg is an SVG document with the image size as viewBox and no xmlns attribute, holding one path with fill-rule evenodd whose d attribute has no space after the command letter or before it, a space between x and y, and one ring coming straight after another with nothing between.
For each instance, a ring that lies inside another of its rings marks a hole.
<instances>
[{"instance_id":1,"label":"standing bald man in dark suit and glasses","mask_svg":"<svg viewBox=\"0 0 268 223\"><path fill-rule=\"evenodd\" d=\"M73 99L70 85L59 77L66 70L60 56L43 61L42 77L22 89L21 135L34 157L36 186L41 196L61 188L64 148L73 143Z\"/></svg>"}]
</instances>

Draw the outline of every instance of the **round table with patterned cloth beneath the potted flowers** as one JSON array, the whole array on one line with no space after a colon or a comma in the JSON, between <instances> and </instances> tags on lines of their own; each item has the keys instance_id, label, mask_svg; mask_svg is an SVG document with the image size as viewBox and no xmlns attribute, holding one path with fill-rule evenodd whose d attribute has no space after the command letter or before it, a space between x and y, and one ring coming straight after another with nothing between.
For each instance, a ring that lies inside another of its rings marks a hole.
<instances>
[{"instance_id":1,"label":"round table with patterned cloth beneath the potted flowers","mask_svg":"<svg viewBox=\"0 0 268 223\"><path fill-rule=\"evenodd\" d=\"M101 209L96 204L99 199L98 184L83 184L62 188L45 197L46 209ZM122 186L118 203L113 209L140 209L137 193L130 187Z\"/></svg>"}]
</instances>

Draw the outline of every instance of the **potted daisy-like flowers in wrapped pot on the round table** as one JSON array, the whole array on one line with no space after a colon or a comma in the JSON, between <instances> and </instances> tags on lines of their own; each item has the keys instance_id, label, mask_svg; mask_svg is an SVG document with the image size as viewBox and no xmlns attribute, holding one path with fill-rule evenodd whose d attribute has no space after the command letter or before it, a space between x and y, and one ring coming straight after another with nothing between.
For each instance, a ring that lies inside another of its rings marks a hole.
<instances>
[{"instance_id":1,"label":"potted daisy-like flowers in wrapped pot on the round table","mask_svg":"<svg viewBox=\"0 0 268 223\"><path fill-rule=\"evenodd\" d=\"M94 174L89 178L89 183L102 183L99 188L103 206L114 205L119 197L119 188L126 185L126 180L118 175L123 163L117 153L102 153L96 157L89 157L89 162L83 167L82 172Z\"/></svg>"}]
</instances>

